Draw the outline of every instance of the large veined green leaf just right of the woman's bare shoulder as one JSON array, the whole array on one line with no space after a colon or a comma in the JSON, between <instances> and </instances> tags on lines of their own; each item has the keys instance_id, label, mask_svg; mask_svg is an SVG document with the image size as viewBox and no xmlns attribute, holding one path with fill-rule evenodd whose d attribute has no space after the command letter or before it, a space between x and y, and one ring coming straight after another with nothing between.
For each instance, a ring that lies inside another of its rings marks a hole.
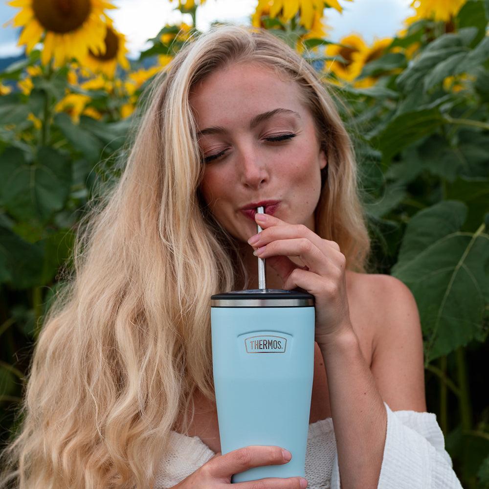
<instances>
[{"instance_id":1,"label":"large veined green leaf just right of the woman's bare shoulder","mask_svg":"<svg viewBox=\"0 0 489 489\"><path fill-rule=\"evenodd\" d=\"M489 302L489 235L460 231L467 206L442 201L407 224L392 274L413 292L420 310L425 359L482 339Z\"/></svg>"}]
</instances>

